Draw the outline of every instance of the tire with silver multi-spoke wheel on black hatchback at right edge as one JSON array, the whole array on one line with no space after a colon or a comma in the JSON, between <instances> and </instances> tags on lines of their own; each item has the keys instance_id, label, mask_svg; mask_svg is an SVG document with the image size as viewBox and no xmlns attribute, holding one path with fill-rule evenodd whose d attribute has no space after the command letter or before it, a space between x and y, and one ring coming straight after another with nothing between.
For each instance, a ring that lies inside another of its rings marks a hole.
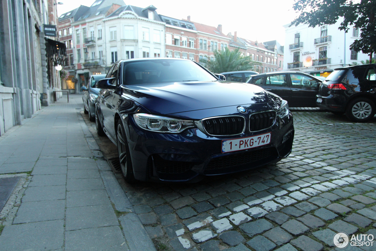
<instances>
[{"instance_id":1,"label":"tire with silver multi-spoke wheel on black hatchback at right edge","mask_svg":"<svg viewBox=\"0 0 376 251\"><path fill-rule=\"evenodd\" d=\"M355 122L366 122L373 118L375 104L368 98L356 98L347 105L346 116Z\"/></svg>"}]
</instances>

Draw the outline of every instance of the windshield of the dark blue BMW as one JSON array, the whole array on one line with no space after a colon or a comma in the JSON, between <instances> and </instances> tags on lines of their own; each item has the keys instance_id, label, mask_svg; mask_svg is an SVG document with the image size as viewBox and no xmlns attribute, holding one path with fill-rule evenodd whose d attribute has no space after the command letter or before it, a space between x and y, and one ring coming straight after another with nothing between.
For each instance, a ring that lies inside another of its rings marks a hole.
<instances>
[{"instance_id":1,"label":"windshield of the dark blue BMW","mask_svg":"<svg viewBox=\"0 0 376 251\"><path fill-rule=\"evenodd\" d=\"M127 63L124 84L217 81L209 72L185 60L145 60Z\"/></svg>"}]
</instances>

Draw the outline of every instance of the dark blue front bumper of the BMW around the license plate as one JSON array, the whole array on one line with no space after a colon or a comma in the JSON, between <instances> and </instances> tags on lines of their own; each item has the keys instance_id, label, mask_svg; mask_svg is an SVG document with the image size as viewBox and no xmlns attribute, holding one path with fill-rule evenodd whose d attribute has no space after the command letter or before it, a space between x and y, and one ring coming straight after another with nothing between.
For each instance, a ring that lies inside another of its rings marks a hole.
<instances>
[{"instance_id":1,"label":"dark blue front bumper of the BMW around the license plate","mask_svg":"<svg viewBox=\"0 0 376 251\"><path fill-rule=\"evenodd\" d=\"M199 129L162 134L139 129L129 119L129 150L135 178L142 181L189 181L197 176L234 173L279 161L291 153L294 126L291 113L273 127L237 136L208 136ZM221 153L223 139L271 133L270 144Z\"/></svg>"}]
</instances>

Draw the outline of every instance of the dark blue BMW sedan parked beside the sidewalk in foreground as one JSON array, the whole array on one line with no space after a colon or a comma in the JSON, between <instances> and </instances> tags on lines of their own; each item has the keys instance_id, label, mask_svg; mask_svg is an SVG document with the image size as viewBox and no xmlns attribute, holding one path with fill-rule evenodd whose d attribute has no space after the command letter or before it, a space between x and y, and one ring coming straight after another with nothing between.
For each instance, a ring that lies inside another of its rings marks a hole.
<instances>
[{"instance_id":1,"label":"dark blue BMW sedan parked beside the sidewalk in foreground","mask_svg":"<svg viewBox=\"0 0 376 251\"><path fill-rule=\"evenodd\" d=\"M287 101L228 83L191 60L121 60L97 82L96 128L117 145L126 181L190 181L291 153Z\"/></svg>"}]
</instances>

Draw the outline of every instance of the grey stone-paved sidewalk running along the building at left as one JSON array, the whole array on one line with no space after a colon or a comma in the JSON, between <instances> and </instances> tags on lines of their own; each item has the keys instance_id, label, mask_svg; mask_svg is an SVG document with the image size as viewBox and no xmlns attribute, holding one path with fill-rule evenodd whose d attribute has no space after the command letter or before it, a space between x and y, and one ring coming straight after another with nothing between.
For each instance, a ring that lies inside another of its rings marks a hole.
<instances>
[{"instance_id":1,"label":"grey stone-paved sidewalk running along the building at left","mask_svg":"<svg viewBox=\"0 0 376 251\"><path fill-rule=\"evenodd\" d=\"M20 177L0 212L0 251L155 250L81 110L70 95L0 137L0 178Z\"/></svg>"}]
</instances>

